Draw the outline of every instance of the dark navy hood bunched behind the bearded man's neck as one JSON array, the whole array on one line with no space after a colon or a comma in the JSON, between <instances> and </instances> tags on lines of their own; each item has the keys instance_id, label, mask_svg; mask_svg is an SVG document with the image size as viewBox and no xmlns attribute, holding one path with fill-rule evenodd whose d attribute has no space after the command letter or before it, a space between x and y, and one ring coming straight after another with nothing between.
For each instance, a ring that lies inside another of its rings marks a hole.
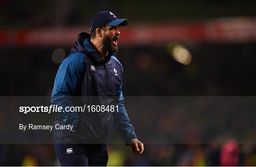
<instances>
[{"instance_id":1,"label":"dark navy hood bunched behind the bearded man's neck","mask_svg":"<svg viewBox=\"0 0 256 167\"><path fill-rule=\"evenodd\" d=\"M97 61L103 61L100 58L98 52L91 45L90 39L91 39L91 35L89 33L84 33L84 32L80 33L78 35L78 40L75 42L73 48L71 48L70 50L70 54L73 52L80 51L85 53L88 56L92 56ZM105 58L104 61L108 61L109 59L110 59L110 56Z\"/></svg>"}]
</instances>

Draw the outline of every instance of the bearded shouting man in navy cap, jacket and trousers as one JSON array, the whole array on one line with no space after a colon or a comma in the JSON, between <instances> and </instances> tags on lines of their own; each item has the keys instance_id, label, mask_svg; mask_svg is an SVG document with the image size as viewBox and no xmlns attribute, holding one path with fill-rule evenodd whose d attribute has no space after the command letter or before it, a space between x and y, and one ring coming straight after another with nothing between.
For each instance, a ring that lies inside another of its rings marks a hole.
<instances>
[{"instance_id":1,"label":"bearded shouting man in navy cap, jacket and trousers","mask_svg":"<svg viewBox=\"0 0 256 167\"><path fill-rule=\"evenodd\" d=\"M58 69L52 104L63 108L89 106L84 112L63 110L56 115L55 125L72 127L54 131L55 150L62 166L106 166L106 142L112 125L134 154L144 151L124 107L123 68L115 57L119 27L127 24L127 19L118 19L110 11L97 13L91 19L91 35L79 34L71 54ZM103 111L90 112L92 105ZM115 111L110 112L113 106Z\"/></svg>"}]
</instances>

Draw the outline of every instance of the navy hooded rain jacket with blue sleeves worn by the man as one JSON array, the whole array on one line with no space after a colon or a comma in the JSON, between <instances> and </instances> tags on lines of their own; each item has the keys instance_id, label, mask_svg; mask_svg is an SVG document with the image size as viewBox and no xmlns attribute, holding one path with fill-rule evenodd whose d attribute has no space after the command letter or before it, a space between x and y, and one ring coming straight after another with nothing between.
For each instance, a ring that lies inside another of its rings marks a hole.
<instances>
[{"instance_id":1,"label":"navy hooded rain jacket with blue sleeves worn by the man","mask_svg":"<svg viewBox=\"0 0 256 167\"><path fill-rule=\"evenodd\" d=\"M63 108L84 104L118 105L118 112L57 113L55 124L73 125L75 130L55 129L54 142L105 143L112 125L125 143L136 138L124 107L122 76L118 59L113 55L102 60L91 45L90 34L80 33L71 54L58 69L51 103Z\"/></svg>"}]
</instances>

